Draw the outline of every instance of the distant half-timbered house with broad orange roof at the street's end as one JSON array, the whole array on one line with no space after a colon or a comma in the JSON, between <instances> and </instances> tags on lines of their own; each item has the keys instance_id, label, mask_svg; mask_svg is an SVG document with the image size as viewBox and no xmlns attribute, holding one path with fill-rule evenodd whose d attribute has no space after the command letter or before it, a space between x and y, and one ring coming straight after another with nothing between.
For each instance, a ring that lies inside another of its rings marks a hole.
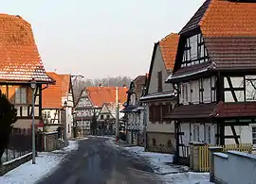
<instances>
[{"instance_id":1,"label":"distant half-timbered house with broad orange roof at the street's end","mask_svg":"<svg viewBox=\"0 0 256 184\"><path fill-rule=\"evenodd\" d=\"M126 100L127 88L119 88L119 102ZM91 133L91 122L94 114L98 117L104 103L115 102L116 87L86 87L76 105L76 123L82 128L82 134ZM99 125L97 125L100 127Z\"/></svg>"}]
</instances>

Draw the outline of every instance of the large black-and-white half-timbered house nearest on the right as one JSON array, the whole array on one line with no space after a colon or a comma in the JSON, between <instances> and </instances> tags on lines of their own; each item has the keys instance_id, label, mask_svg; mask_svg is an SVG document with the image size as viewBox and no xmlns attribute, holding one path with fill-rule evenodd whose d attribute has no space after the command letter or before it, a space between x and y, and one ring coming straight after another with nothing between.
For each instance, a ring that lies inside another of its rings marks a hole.
<instances>
[{"instance_id":1,"label":"large black-and-white half-timbered house nearest on the right","mask_svg":"<svg viewBox=\"0 0 256 184\"><path fill-rule=\"evenodd\" d=\"M256 3L207 0L180 31L174 73L176 150L189 142L253 142Z\"/></svg>"}]
</instances>

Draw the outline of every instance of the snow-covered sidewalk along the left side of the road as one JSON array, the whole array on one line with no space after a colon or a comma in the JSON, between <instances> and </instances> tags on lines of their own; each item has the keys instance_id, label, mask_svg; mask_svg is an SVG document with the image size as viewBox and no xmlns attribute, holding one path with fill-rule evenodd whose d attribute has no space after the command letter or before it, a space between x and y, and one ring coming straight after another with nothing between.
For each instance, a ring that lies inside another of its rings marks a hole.
<instances>
[{"instance_id":1,"label":"snow-covered sidewalk along the left side of the road","mask_svg":"<svg viewBox=\"0 0 256 184\"><path fill-rule=\"evenodd\" d=\"M38 153L36 164L29 160L21 166L15 168L4 176L0 176L0 183L5 184L33 184L44 176L54 172L58 165L64 160L70 151L78 149L78 142L69 141L69 145L62 151L63 154L56 152Z\"/></svg>"}]
</instances>

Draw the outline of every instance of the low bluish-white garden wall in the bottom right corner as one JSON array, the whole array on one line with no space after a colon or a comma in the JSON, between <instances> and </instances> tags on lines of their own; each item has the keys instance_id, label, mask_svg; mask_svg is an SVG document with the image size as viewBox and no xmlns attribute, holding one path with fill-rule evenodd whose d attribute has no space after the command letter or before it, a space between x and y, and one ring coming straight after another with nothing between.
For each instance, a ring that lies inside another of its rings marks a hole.
<instances>
[{"instance_id":1,"label":"low bluish-white garden wall in the bottom right corner","mask_svg":"<svg viewBox=\"0 0 256 184\"><path fill-rule=\"evenodd\" d=\"M255 162L256 157L254 155L242 152L214 153L215 183L256 183Z\"/></svg>"}]
</instances>

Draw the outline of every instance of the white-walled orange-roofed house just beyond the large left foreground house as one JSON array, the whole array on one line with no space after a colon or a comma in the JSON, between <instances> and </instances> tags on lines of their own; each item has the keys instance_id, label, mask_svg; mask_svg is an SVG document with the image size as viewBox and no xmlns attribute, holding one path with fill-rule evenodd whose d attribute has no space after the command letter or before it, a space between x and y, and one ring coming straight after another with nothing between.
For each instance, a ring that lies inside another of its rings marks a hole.
<instances>
[{"instance_id":1,"label":"white-walled orange-roofed house just beyond the large left foreground house","mask_svg":"<svg viewBox=\"0 0 256 184\"><path fill-rule=\"evenodd\" d=\"M43 91L43 119L46 131L54 131L66 125L66 135L70 138L73 126L73 88L71 75L46 73L53 78L55 85L49 85ZM66 104L65 104L66 102ZM64 116L64 114L66 116ZM64 124L65 121L65 124Z\"/></svg>"}]
</instances>

